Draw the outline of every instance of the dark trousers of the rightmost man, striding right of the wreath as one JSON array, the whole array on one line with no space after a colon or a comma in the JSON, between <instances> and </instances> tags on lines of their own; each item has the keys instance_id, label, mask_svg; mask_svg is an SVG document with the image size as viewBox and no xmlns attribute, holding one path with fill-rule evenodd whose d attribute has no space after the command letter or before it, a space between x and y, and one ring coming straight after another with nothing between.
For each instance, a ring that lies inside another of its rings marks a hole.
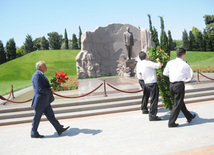
<instances>
[{"instance_id":1,"label":"dark trousers of the rightmost man, striding right of the wreath","mask_svg":"<svg viewBox=\"0 0 214 155\"><path fill-rule=\"evenodd\" d=\"M187 120L190 120L193 115L187 110L184 103L185 85L183 82L170 83L170 92L174 97L174 107L172 108L168 125L174 125L180 111L183 112Z\"/></svg>"}]
</instances>

